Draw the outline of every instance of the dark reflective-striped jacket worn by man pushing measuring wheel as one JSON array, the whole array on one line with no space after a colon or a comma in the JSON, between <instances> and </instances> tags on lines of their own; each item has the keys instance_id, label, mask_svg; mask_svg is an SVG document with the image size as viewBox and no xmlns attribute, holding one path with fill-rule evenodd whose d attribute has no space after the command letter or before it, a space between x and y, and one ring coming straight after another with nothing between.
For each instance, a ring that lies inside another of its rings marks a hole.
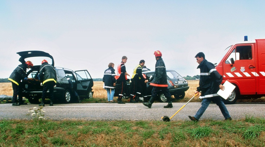
<instances>
[{"instance_id":1,"label":"dark reflective-striped jacket worn by man pushing measuring wheel","mask_svg":"<svg viewBox=\"0 0 265 147\"><path fill-rule=\"evenodd\" d=\"M200 82L197 91L201 91L199 98L211 98L213 96L219 96L217 94L219 85L221 84L223 77L216 71L215 66L204 59L197 67L200 69Z\"/></svg>"}]
</instances>

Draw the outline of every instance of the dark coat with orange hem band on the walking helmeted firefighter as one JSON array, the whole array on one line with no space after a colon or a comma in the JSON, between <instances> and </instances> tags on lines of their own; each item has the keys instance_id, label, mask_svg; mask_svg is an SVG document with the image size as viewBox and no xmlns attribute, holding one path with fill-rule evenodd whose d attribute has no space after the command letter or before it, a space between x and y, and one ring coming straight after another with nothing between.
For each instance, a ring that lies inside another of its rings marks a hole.
<instances>
[{"instance_id":1,"label":"dark coat with orange hem band on the walking helmeted firefighter","mask_svg":"<svg viewBox=\"0 0 265 147\"><path fill-rule=\"evenodd\" d=\"M150 79L151 86L168 87L168 76L165 68L165 63L162 58L159 58L155 63L155 74Z\"/></svg>"}]
</instances>

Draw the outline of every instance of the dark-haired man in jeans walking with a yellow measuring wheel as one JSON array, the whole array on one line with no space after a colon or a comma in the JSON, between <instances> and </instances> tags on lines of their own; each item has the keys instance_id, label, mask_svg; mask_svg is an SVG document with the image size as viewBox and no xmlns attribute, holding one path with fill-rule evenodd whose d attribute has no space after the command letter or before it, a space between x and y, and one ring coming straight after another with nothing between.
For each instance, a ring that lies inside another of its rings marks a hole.
<instances>
[{"instance_id":1,"label":"dark-haired man in jeans walking with a yellow measuring wheel","mask_svg":"<svg viewBox=\"0 0 265 147\"><path fill-rule=\"evenodd\" d=\"M197 69L200 69L201 76L199 87L197 87L197 90L194 93L196 94L201 91L200 99L203 99L203 101L201 102L201 108L197 111L195 116L189 116L189 118L192 121L198 121L211 101L213 101L217 106L219 106L225 120L231 120L232 118L229 115L221 96L217 94L219 89L225 89L225 87L221 84L223 77L218 73L218 71L216 71L215 66L205 59L203 52L199 52L195 58L198 64L200 64Z\"/></svg>"}]
</instances>

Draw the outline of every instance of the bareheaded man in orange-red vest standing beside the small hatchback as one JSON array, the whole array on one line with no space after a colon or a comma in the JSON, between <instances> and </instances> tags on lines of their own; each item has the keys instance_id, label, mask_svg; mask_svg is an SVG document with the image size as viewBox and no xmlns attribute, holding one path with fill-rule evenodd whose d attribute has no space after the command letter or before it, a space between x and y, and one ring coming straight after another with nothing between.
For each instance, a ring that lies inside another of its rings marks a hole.
<instances>
[{"instance_id":1,"label":"bareheaded man in orange-red vest standing beside the small hatchback","mask_svg":"<svg viewBox=\"0 0 265 147\"><path fill-rule=\"evenodd\" d=\"M127 59L128 58L126 56L122 56L122 61L117 67L116 79L117 79L117 84L120 84L119 97L118 97L119 104L125 104L124 102L122 102L122 97L125 95L126 92L127 76L130 76L130 74L126 72L126 67L125 67Z\"/></svg>"}]
</instances>

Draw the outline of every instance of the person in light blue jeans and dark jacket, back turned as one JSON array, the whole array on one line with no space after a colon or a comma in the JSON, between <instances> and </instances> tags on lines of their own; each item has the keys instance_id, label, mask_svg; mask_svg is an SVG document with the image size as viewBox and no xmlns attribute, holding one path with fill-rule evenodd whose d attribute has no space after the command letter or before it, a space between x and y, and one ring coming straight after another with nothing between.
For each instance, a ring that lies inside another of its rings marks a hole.
<instances>
[{"instance_id":1,"label":"person in light blue jeans and dark jacket, back turned","mask_svg":"<svg viewBox=\"0 0 265 147\"><path fill-rule=\"evenodd\" d=\"M116 79L115 79L115 69L114 64L109 63L108 69L104 71L104 76L102 78L102 81L104 82L104 88L107 90L107 97L109 103L115 103L113 101L114 93L115 93L115 86L116 86Z\"/></svg>"}]
</instances>

